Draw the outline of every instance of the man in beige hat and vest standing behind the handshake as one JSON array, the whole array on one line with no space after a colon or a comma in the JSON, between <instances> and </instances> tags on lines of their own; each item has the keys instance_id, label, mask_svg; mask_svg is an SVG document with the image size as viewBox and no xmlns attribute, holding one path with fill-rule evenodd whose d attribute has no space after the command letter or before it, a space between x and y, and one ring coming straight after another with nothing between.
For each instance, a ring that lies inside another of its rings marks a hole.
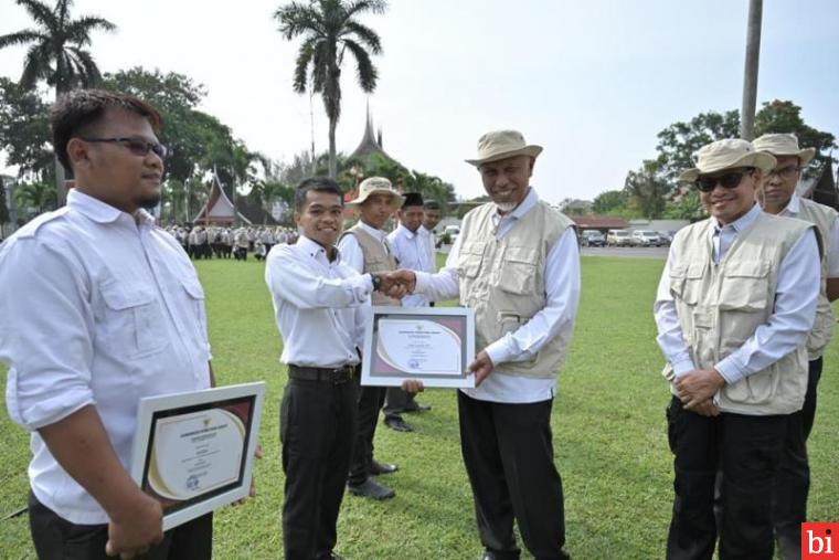
<instances>
[{"instance_id":1,"label":"man in beige hat and vest standing behind the handshake","mask_svg":"<svg viewBox=\"0 0 839 560\"><path fill-rule=\"evenodd\" d=\"M359 210L359 222L344 232L338 249L344 262L360 274L396 270L396 258L387 243L387 232L383 228L403 202L402 194L383 177L370 177L359 186L359 197L349 202ZM400 305L399 299L387 297L381 292L372 294L372 303ZM390 474L397 468L396 465L379 463L373 458L373 437L384 394L383 387L359 388L358 433L347 478L347 486L355 496L387 499L395 495L391 488L382 486L371 477Z\"/></svg>"}]
</instances>

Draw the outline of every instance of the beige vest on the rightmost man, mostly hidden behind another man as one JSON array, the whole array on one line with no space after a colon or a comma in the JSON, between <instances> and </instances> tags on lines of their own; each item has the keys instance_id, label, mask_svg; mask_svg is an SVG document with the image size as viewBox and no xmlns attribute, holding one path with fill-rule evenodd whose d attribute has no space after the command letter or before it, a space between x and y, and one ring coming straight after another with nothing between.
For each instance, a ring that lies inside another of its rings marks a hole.
<instances>
[{"instance_id":1,"label":"beige vest on the rightmost man, mostly hidden behind another man","mask_svg":"<svg viewBox=\"0 0 839 560\"><path fill-rule=\"evenodd\" d=\"M813 325L809 338L807 338L807 357L815 360L825 353L825 347L830 341L830 337L833 336L833 311L827 298L827 255L835 249L830 246L830 231L833 229L839 214L832 208L808 199L800 199L799 203L797 218L816 224L824 247L821 252L821 292L816 307L816 323Z\"/></svg>"}]
</instances>

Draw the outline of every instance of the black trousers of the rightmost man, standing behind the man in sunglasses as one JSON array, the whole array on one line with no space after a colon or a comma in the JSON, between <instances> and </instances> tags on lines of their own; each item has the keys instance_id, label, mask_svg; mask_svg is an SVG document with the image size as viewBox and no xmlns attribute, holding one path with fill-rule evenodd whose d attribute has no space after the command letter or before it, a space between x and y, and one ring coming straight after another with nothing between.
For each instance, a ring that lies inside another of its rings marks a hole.
<instances>
[{"instance_id":1,"label":"black trousers of the rightmost man, standing behind the man in sunglasses","mask_svg":"<svg viewBox=\"0 0 839 560\"><path fill-rule=\"evenodd\" d=\"M821 378L822 360L810 361L804 408L789 416L789 430L775 479L772 518L778 537L799 542L801 524L807 520L807 494L810 489L810 466L807 439L816 419L816 389Z\"/></svg>"}]
</instances>

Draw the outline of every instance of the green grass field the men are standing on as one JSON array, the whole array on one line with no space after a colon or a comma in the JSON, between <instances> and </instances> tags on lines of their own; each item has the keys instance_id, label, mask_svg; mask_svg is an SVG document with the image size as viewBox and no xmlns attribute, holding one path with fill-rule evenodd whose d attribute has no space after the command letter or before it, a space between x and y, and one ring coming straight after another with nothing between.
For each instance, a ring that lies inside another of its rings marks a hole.
<instances>
[{"instance_id":1,"label":"green grass field the men are standing on","mask_svg":"<svg viewBox=\"0 0 839 560\"><path fill-rule=\"evenodd\" d=\"M652 299L662 261L583 258L583 298L553 409L556 464L563 476L567 548L576 559L657 559L672 498L667 447L667 384L655 342ZM263 265L200 262L206 292L213 367L220 384L265 380L265 458L256 467L258 496L215 517L215 557L282 557L278 408L286 381L277 358ZM6 320L6 319L4 319ZM839 345L825 357L819 414L810 437L810 517L839 520ZM4 379L4 373L2 374ZM348 495L338 551L348 559L477 559L471 496L460 459L455 393L434 390L412 414L414 433L380 424L376 456L399 463L383 482L386 503ZM26 434L0 416L0 517L25 505ZM25 515L0 521L0 558L34 558ZM524 558L529 558L527 554Z\"/></svg>"}]
</instances>

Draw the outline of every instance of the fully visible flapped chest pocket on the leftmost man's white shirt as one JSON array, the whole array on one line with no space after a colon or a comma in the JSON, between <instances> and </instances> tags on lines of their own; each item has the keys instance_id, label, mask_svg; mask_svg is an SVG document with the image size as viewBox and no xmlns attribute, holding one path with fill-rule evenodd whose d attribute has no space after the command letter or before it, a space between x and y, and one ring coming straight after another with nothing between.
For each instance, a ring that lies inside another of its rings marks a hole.
<instances>
[{"instance_id":1,"label":"fully visible flapped chest pocket on the leftmost man's white shirt","mask_svg":"<svg viewBox=\"0 0 839 560\"><path fill-rule=\"evenodd\" d=\"M100 330L111 351L137 359L169 345L160 303L149 287L115 281L103 284L99 292L105 304Z\"/></svg>"}]
</instances>

